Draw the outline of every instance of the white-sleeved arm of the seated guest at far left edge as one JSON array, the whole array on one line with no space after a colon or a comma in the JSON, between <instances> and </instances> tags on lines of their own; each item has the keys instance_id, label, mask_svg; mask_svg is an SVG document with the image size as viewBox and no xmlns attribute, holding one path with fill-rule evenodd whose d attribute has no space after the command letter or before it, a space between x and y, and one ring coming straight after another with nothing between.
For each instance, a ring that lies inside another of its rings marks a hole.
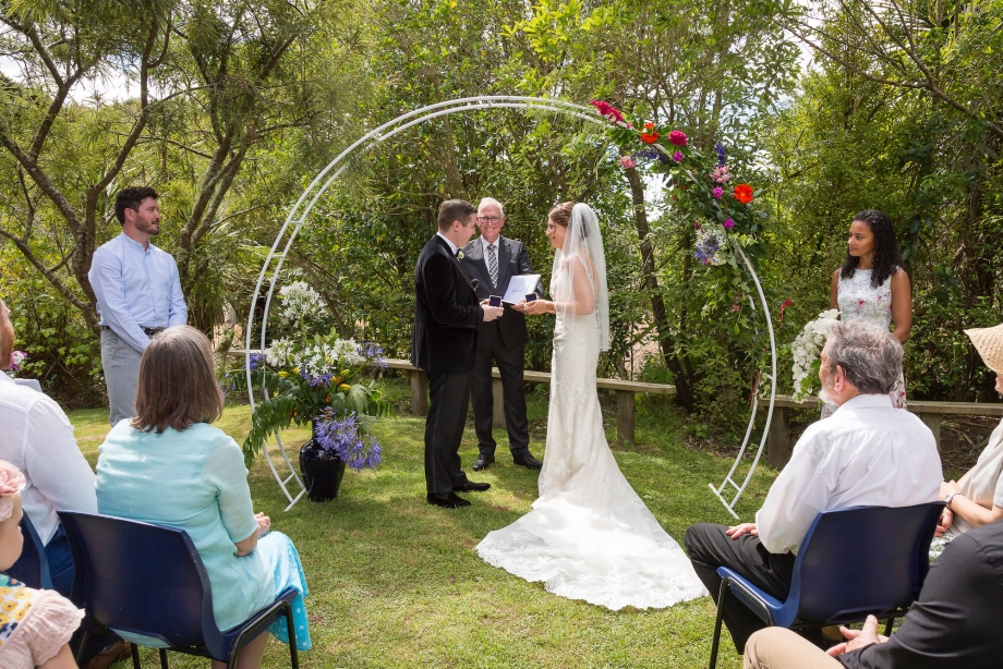
<instances>
[{"instance_id":1,"label":"white-sleeved arm of the seated guest at far left edge","mask_svg":"<svg viewBox=\"0 0 1003 669\"><path fill-rule=\"evenodd\" d=\"M73 426L53 400L39 396L27 415L25 475L53 509L97 513L95 476L84 459Z\"/></svg>"}]
</instances>

